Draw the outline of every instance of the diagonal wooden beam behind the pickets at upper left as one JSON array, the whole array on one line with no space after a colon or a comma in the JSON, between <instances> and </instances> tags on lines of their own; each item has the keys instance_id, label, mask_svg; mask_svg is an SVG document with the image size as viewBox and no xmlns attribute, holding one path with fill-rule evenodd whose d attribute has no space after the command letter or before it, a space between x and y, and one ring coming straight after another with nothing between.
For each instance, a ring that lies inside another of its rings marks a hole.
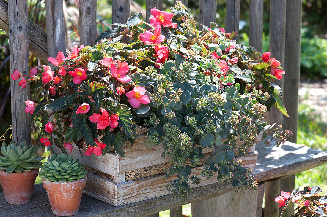
<instances>
[{"instance_id":1,"label":"diagonal wooden beam behind the pickets at upper left","mask_svg":"<svg viewBox=\"0 0 327 217\"><path fill-rule=\"evenodd\" d=\"M0 28L9 35L8 2L0 0ZM28 48L33 54L47 63L48 48L46 33L32 21L28 20ZM66 49L66 54L70 54Z\"/></svg>"}]
</instances>

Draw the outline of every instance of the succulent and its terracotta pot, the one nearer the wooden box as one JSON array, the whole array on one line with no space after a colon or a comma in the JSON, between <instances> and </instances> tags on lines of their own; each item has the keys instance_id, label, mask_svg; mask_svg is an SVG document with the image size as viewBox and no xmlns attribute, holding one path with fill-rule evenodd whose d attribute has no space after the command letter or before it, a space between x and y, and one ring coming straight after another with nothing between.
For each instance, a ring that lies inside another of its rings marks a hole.
<instances>
[{"instance_id":1,"label":"succulent and its terracotta pot, the one nearer the wooden box","mask_svg":"<svg viewBox=\"0 0 327 217\"><path fill-rule=\"evenodd\" d=\"M83 167L77 159L73 159L73 155L64 153L58 156L52 154L41 167L39 176L54 215L71 216L78 212L86 185L87 171Z\"/></svg>"}]
</instances>

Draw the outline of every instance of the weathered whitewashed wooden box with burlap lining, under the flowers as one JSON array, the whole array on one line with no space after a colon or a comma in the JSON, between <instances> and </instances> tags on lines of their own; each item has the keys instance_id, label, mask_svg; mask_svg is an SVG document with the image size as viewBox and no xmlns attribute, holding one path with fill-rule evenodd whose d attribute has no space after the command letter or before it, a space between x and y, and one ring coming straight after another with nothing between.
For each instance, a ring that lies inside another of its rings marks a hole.
<instances>
[{"instance_id":1,"label":"weathered whitewashed wooden box with burlap lining, under the flowers","mask_svg":"<svg viewBox=\"0 0 327 217\"><path fill-rule=\"evenodd\" d=\"M85 151L79 150L73 145L74 158L84 163L85 168L89 170L83 193L114 206L169 194L165 188L167 180L164 178L163 170L172 164L169 163L169 159L162 158L162 145L145 147L143 142L146 137L146 135L138 136L131 148L129 148L130 144L126 144L125 157L120 157L116 153L107 153L104 156L95 156L94 154L85 156ZM205 158L213 152L213 149L206 149L203 151ZM241 159L243 165L247 165L253 171L258 153L254 151L254 147L252 149L249 155ZM61 152L55 146L53 146L53 151L55 154ZM201 178L198 185L190 182L192 187L196 188L218 181L216 175L211 179L202 178L200 175L202 167L198 166L192 169L191 176L198 175Z\"/></svg>"}]
</instances>

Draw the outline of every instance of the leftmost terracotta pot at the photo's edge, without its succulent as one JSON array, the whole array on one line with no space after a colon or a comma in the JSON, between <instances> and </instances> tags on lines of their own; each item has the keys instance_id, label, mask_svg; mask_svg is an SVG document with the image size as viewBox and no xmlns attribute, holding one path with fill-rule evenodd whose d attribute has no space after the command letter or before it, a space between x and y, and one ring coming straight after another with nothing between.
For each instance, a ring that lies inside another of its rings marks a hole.
<instances>
[{"instance_id":1,"label":"leftmost terracotta pot at the photo's edge, without its succulent","mask_svg":"<svg viewBox=\"0 0 327 217\"><path fill-rule=\"evenodd\" d=\"M25 204L31 200L35 178L39 169L29 172L10 173L0 171L0 180L6 201L10 204Z\"/></svg>"}]
</instances>

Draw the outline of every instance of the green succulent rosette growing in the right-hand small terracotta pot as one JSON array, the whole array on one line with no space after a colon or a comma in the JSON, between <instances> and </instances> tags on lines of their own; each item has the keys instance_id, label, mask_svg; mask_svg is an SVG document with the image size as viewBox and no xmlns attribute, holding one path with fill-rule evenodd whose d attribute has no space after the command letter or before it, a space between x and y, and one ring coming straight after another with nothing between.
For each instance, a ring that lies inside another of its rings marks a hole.
<instances>
[{"instance_id":1,"label":"green succulent rosette growing in the right-hand small terracotta pot","mask_svg":"<svg viewBox=\"0 0 327 217\"><path fill-rule=\"evenodd\" d=\"M39 171L39 176L47 181L72 182L86 177L87 171L84 164L73 159L73 155L64 153L56 156L52 154L44 166Z\"/></svg>"}]
</instances>

